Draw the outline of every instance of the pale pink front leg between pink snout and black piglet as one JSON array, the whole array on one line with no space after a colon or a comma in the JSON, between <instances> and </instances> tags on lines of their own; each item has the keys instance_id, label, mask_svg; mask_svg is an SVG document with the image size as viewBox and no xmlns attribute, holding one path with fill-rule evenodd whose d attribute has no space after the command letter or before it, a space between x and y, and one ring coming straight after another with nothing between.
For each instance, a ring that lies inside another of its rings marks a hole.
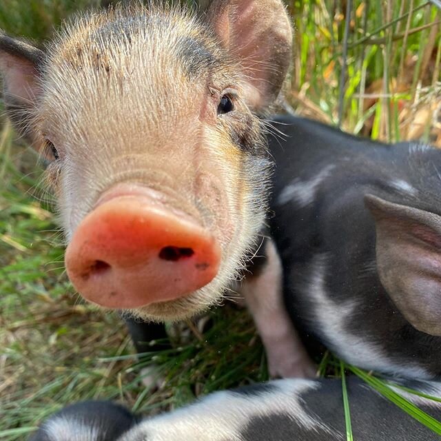
<instances>
[{"instance_id":1,"label":"pale pink front leg between pink snout and black piglet","mask_svg":"<svg viewBox=\"0 0 441 441\"><path fill-rule=\"evenodd\" d=\"M283 303L283 269L276 246L269 238L263 244L265 263L254 265L240 291L263 341L271 377L316 376ZM259 253L262 254L262 252Z\"/></svg>"}]
</instances>

